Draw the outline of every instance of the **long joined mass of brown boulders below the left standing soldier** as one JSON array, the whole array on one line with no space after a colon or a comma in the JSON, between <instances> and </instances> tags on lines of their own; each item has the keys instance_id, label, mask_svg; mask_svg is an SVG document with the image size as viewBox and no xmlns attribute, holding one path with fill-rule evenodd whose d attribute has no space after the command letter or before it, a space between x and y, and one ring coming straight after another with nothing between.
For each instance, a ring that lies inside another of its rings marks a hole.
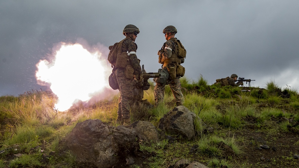
<instances>
[{"instance_id":1,"label":"long joined mass of brown boulders below the left standing soldier","mask_svg":"<svg viewBox=\"0 0 299 168\"><path fill-rule=\"evenodd\" d=\"M121 164L120 161L139 149L136 138L149 141L158 140L157 137L158 131L147 121L136 121L129 127L112 127L101 120L89 119L74 127L65 144L80 165L108 168Z\"/></svg>"}]
</instances>

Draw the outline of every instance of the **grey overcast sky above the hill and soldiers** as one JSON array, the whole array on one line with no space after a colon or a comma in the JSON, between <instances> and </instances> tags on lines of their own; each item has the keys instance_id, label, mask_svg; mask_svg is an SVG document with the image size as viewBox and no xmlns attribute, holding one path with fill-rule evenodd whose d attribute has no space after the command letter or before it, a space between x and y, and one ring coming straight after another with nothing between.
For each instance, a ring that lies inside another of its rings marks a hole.
<instances>
[{"instance_id":1,"label":"grey overcast sky above the hill and soldiers","mask_svg":"<svg viewBox=\"0 0 299 168\"><path fill-rule=\"evenodd\" d=\"M212 84L236 73L255 79L251 86L274 80L298 89L298 16L298 0L0 1L0 96L46 89L35 65L55 44L85 40L107 53L127 24L140 29L137 57L147 72L161 67L162 30L173 25L191 80L202 74Z\"/></svg>"}]
</instances>

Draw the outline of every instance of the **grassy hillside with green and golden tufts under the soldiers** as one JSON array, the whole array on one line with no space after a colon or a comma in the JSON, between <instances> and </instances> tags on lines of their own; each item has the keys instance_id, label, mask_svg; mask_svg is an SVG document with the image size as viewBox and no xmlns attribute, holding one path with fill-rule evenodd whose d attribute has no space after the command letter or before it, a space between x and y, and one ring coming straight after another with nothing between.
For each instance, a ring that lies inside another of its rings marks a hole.
<instances>
[{"instance_id":1,"label":"grassy hillside with green and golden tufts under the soldiers","mask_svg":"<svg viewBox=\"0 0 299 168\"><path fill-rule=\"evenodd\" d=\"M279 88L274 81L266 89L210 86L203 78L181 78L181 83L184 105L205 125L196 125L192 140L177 135L174 141L140 142L142 158L127 167L174 167L180 159L208 167L299 167L294 158L299 155L297 91ZM144 95L154 103L153 86ZM86 119L117 126L118 95L89 107L77 104L66 112L54 107L55 100L51 93L38 91L0 97L0 167L80 167L63 138ZM157 126L173 107L167 87L164 104L135 107L131 120ZM269 149L260 147L263 144Z\"/></svg>"}]
</instances>

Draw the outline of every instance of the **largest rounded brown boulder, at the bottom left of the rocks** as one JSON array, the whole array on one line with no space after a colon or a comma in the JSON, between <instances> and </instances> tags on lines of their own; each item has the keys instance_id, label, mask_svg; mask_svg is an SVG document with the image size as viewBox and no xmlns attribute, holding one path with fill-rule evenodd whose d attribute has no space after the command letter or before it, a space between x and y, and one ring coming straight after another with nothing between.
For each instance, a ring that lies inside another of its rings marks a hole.
<instances>
[{"instance_id":1,"label":"largest rounded brown boulder, at the bottom left of the rocks","mask_svg":"<svg viewBox=\"0 0 299 168\"><path fill-rule=\"evenodd\" d=\"M88 167L112 167L117 163L117 145L112 145L107 125L101 120L85 120L76 124L65 138L66 146L77 156L79 164Z\"/></svg>"}]
</instances>

